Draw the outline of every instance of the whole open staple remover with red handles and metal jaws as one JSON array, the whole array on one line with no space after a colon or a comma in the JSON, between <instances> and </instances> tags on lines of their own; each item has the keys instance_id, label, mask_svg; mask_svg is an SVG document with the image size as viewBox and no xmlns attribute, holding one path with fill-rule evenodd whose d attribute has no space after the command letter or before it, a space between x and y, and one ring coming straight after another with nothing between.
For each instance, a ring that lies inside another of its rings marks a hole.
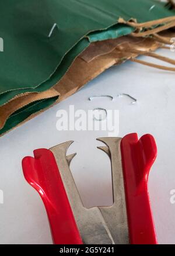
<instances>
[{"instance_id":1,"label":"whole open staple remover with red handles and metal jaws","mask_svg":"<svg viewBox=\"0 0 175 256\"><path fill-rule=\"evenodd\" d=\"M101 138L111 160L113 205L86 209L70 171L73 141L34 151L23 160L24 177L43 199L55 244L156 244L148 174L156 158L149 134Z\"/></svg>"}]
</instances>

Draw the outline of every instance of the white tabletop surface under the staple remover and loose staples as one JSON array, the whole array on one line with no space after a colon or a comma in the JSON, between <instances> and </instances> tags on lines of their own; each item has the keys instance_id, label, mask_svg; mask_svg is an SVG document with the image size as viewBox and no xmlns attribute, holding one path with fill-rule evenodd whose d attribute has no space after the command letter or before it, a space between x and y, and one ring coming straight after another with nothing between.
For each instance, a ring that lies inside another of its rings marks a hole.
<instances>
[{"instance_id":1,"label":"white tabletop surface under the staple remover and loose staples","mask_svg":"<svg viewBox=\"0 0 175 256\"><path fill-rule=\"evenodd\" d=\"M159 51L174 58L175 53ZM147 57L142 57L147 60ZM162 63L161 63L162 64ZM36 148L50 148L75 140L69 152L78 155L71 169L87 207L112 203L110 161L97 150L95 139L107 132L58 132L56 112L68 109L107 108L120 110L120 133L137 132L155 136L158 156L149 176L149 193L159 243L175 242L175 205L170 203L170 190L175 189L175 84L173 72L159 71L136 63L112 67L64 102L30 120L0 138L0 189L4 204L0 205L0 243L52 243L47 215L40 197L23 177L21 161L33 155ZM138 99L130 105L127 98L96 99L92 95L116 96L126 93Z\"/></svg>"}]
</instances>

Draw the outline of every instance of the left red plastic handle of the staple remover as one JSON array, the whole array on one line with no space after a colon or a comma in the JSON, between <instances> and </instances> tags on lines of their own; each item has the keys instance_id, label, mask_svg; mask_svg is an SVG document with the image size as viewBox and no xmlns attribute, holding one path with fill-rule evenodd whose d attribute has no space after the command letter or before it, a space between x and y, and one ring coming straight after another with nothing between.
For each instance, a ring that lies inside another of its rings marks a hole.
<instances>
[{"instance_id":1,"label":"left red plastic handle of the staple remover","mask_svg":"<svg viewBox=\"0 0 175 256\"><path fill-rule=\"evenodd\" d=\"M82 244L54 154L47 149L35 150L34 158L23 159L22 167L27 182L44 202L54 243Z\"/></svg>"}]
</instances>

